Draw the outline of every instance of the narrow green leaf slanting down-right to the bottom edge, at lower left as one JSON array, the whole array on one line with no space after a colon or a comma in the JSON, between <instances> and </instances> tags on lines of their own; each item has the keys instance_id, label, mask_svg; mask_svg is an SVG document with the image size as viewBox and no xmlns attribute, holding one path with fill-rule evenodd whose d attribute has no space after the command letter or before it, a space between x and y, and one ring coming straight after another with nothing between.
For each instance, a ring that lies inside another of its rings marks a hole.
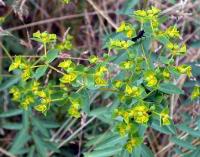
<instances>
[{"instance_id":1,"label":"narrow green leaf slanting down-right to the bottom edge, at lower left","mask_svg":"<svg viewBox=\"0 0 200 157\"><path fill-rule=\"evenodd\" d=\"M46 157L47 149L46 149L45 143L43 143L41 137L39 137L34 132L32 132L32 137L33 137L33 141L35 143L37 152L40 154L41 157Z\"/></svg>"}]
</instances>

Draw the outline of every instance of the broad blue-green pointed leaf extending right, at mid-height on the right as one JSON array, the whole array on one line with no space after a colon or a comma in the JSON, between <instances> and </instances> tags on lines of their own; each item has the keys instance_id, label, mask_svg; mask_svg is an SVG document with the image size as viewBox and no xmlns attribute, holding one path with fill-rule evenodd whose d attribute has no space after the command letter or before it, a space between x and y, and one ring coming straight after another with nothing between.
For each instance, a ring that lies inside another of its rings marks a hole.
<instances>
[{"instance_id":1,"label":"broad blue-green pointed leaf extending right, at mid-height on the right","mask_svg":"<svg viewBox=\"0 0 200 157\"><path fill-rule=\"evenodd\" d=\"M167 94L184 94L181 89L172 83L161 83L158 90Z\"/></svg>"}]
</instances>

